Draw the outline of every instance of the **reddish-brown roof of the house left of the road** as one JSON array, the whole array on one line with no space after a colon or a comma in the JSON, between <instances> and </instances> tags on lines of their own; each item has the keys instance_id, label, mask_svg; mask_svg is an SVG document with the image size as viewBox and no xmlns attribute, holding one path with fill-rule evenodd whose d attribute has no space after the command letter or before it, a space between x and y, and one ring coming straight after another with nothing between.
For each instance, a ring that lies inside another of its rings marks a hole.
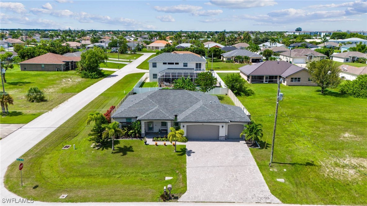
<instances>
[{"instance_id":1,"label":"reddish-brown roof of the house left of the road","mask_svg":"<svg viewBox=\"0 0 367 206\"><path fill-rule=\"evenodd\" d=\"M22 61L19 64L65 64L63 61L80 61L80 57L62 56L54 53L47 53Z\"/></svg>"}]
</instances>

